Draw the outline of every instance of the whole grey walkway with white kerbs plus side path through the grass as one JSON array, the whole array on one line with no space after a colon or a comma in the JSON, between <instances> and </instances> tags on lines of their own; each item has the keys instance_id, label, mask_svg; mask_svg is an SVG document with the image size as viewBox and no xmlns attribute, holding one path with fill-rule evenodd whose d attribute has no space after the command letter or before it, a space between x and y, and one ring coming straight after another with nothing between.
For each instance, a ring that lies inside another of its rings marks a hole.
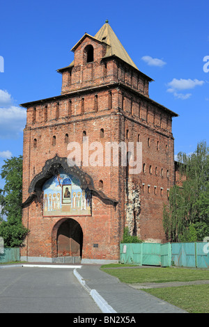
<instances>
[{"instance_id":1,"label":"whole grey walkway with white kerbs plus side path through the grass","mask_svg":"<svg viewBox=\"0 0 209 327\"><path fill-rule=\"evenodd\" d=\"M209 280L195 282L167 282L167 283L141 283L125 284L118 278L110 276L100 270L98 264L49 264L42 262L28 262L13 264L12 266L41 266L57 269L73 269L73 273L86 292L97 303L103 313L187 313L166 301L162 301L143 291L151 287L174 287L182 285L208 284ZM3 268L6 266L1 266ZM8 266L7 266L8 267ZM91 312L89 312L91 313Z\"/></svg>"}]
</instances>

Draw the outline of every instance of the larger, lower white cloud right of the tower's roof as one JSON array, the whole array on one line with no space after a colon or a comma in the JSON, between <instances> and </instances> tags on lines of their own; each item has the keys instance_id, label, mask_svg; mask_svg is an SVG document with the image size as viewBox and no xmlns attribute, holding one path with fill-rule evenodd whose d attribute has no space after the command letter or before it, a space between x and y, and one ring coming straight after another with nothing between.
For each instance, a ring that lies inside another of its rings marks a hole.
<instances>
[{"instance_id":1,"label":"larger, lower white cloud right of the tower's roof","mask_svg":"<svg viewBox=\"0 0 209 327\"><path fill-rule=\"evenodd\" d=\"M195 88L196 86L202 86L205 81L199 81L198 79L173 79L169 83L167 83L167 86L169 87L167 89L167 92L173 93L173 95L177 99L189 99L191 97L192 93L178 93L178 90L189 90L192 88Z\"/></svg>"}]
</instances>

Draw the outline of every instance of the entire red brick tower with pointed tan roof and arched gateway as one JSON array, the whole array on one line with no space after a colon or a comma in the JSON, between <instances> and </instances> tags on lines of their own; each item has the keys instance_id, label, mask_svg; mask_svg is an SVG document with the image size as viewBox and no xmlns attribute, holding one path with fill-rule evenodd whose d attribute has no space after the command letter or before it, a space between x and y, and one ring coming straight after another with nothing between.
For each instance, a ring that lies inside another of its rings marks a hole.
<instances>
[{"instance_id":1,"label":"entire red brick tower with pointed tan roof and arched gateway","mask_svg":"<svg viewBox=\"0 0 209 327\"><path fill-rule=\"evenodd\" d=\"M22 260L118 260L125 226L144 241L164 241L177 114L150 99L153 80L139 71L108 22L94 37L85 33L72 51L74 61L58 70L61 95L22 104L22 222L30 230ZM81 158L73 166L69 145L75 144ZM140 169L131 173L137 144Z\"/></svg>"}]
</instances>

